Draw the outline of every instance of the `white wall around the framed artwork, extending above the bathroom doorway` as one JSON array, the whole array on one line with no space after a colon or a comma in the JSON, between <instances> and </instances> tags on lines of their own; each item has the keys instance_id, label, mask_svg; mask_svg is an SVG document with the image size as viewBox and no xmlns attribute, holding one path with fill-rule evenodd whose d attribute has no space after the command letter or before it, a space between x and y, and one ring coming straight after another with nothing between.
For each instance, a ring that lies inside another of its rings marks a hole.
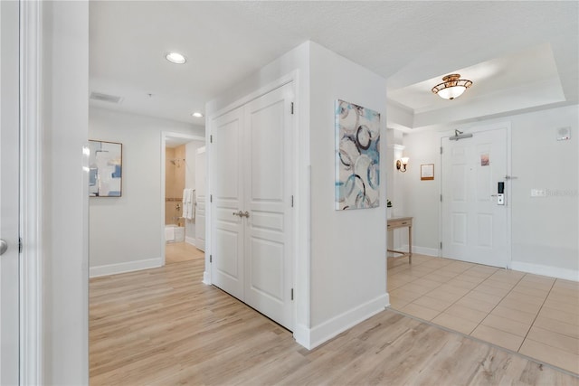
<instances>
[{"instance_id":1,"label":"white wall around the framed artwork, extending above the bathroom doorway","mask_svg":"<svg viewBox=\"0 0 579 386\"><path fill-rule=\"evenodd\" d=\"M122 196L90 198L90 276L159 267L161 132L204 137L204 128L104 108L90 108L89 118L90 139L123 145Z\"/></svg>"}]
</instances>

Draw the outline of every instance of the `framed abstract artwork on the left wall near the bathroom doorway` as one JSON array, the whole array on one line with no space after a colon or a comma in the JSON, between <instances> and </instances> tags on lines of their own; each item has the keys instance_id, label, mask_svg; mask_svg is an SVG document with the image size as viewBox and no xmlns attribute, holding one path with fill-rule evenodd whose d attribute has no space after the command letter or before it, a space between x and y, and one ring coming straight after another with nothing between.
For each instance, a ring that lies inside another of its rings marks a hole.
<instances>
[{"instance_id":1,"label":"framed abstract artwork on the left wall near the bathroom doorway","mask_svg":"<svg viewBox=\"0 0 579 386\"><path fill-rule=\"evenodd\" d=\"M90 197L122 194L123 146L117 142L89 140Z\"/></svg>"}]
</instances>

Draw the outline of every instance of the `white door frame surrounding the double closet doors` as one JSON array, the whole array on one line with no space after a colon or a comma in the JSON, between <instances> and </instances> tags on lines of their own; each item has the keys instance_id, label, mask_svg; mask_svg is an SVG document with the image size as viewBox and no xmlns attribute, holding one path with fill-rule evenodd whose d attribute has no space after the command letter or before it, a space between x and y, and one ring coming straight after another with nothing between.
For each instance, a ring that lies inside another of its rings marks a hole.
<instances>
[{"instance_id":1,"label":"white door frame surrounding the double closet doors","mask_svg":"<svg viewBox=\"0 0 579 386\"><path fill-rule=\"evenodd\" d=\"M303 232L304 230L302 230L300 228L300 224L303 223L300 222L301 218L300 216L306 216L309 218L309 196L306 197L306 194L304 194L304 197L299 197L299 195L297 195L298 192L303 192L303 191L307 191L309 192L309 175L307 176L308 178L303 178L301 177L303 180L307 181L307 186L302 186L304 185L304 183L300 184L300 175L299 175L299 171L300 169L300 164L299 164L299 154L300 154L300 147L299 147L299 72L296 71L291 71L288 74L280 77L278 80L274 80L271 83L261 87L260 89L257 89L255 91L253 91L252 93L246 95L245 97L238 99L236 101L234 101L233 103L229 104L228 106L226 106L225 108L221 108L217 111L215 111L214 113L212 113L210 116L207 117L206 119L206 123L205 123L205 136L206 136L206 142L208 144L207 146L207 185L206 185L206 194L209 197L211 195L212 192L212 173L213 173L213 169L212 169L212 165L211 165L211 146L209 145L211 142L211 137L212 137L212 133L213 133L213 127L212 127L212 123L214 121L215 118L218 118L220 116L222 116L223 114L228 113L229 111L232 111L235 108L239 108L245 104L247 104L248 102L252 101L253 99L257 99L260 98L261 96L267 94L268 92L274 90L274 89L278 89L281 86L284 86L288 83L293 83L293 89L294 89L294 104L297 108L297 113L294 115L294 118L292 119L292 124L291 124L291 130L293 133L293 145L292 145L292 149L291 149L291 157L292 157L292 168L293 168L293 175L292 175L292 187L293 187L293 191L296 194L296 200L294 202L294 211L293 211L293 254L291 259L293 259L293 288L294 288L294 293L297 294L294 297L294 301L293 301L293 323L292 325L294 326L294 337L296 337L296 339L298 340L298 342L300 344L304 344L308 341L308 333L304 331L302 331L304 329L303 326L299 325L299 321L298 321L298 315L299 315L299 309L303 310L304 308L307 308L308 305L305 304L300 304L299 300L300 299L309 299L309 287L308 287L308 283L309 283L309 275L308 278L303 278L303 275L307 272L307 274L309 274L309 268L307 267L307 264L304 264L305 260L309 260L309 249L308 246L305 245L301 245L301 243L299 242L299 240L301 240L299 238L299 235L301 232ZM302 141L302 146L304 146L304 144L308 145L308 139L304 139ZM302 181L303 181L302 180ZM211 205L211 199L209 198L206 201L206 205L205 205L205 218L206 218L206 227L205 227L205 269L204 269L204 284L206 285L211 285L211 256L212 256L212 242L213 242L213 234L212 234L212 205ZM301 231L300 231L301 230ZM302 254L302 258L301 260L299 259L300 256L300 252ZM298 279L300 276L300 273L302 274L302 278ZM300 287L299 284L300 283L305 283L305 285L303 287ZM308 315L308 313L307 313ZM297 336L299 335L299 336Z\"/></svg>"}]
</instances>

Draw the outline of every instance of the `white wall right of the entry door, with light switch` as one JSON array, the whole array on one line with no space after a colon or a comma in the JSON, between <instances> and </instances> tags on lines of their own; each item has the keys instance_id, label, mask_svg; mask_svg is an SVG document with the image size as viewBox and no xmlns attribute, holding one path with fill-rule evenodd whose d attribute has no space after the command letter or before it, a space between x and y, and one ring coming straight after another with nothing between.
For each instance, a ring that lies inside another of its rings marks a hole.
<instances>
[{"instance_id":1,"label":"white wall right of the entry door, with light switch","mask_svg":"<svg viewBox=\"0 0 579 386\"><path fill-rule=\"evenodd\" d=\"M512 268L579 280L579 107L512 118ZM556 129L571 127L571 140ZM531 198L532 188L547 189Z\"/></svg>"}]
</instances>

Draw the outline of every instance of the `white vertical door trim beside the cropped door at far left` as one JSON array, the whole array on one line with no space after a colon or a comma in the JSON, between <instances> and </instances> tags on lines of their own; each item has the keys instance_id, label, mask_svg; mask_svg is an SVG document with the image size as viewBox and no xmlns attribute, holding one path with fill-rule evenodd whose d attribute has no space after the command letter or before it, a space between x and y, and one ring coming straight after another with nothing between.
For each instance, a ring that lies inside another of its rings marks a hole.
<instances>
[{"instance_id":1,"label":"white vertical door trim beside the cropped door at far left","mask_svg":"<svg viewBox=\"0 0 579 386\"><path fill-rule=\"evenodd\" d=\"M43 383L42 1L20 1L20 384Z\"/></svg>"}]
</instances>

